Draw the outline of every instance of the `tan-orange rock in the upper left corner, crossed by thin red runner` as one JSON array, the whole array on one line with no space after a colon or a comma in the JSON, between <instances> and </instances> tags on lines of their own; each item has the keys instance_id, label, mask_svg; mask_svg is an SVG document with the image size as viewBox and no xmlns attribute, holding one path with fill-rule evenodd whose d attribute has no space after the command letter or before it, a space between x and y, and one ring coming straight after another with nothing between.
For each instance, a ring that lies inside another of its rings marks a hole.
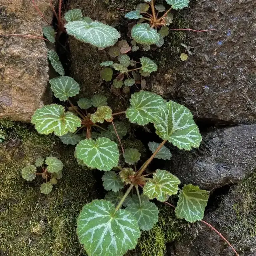
<instances>
[{"instance_id":1,"label":"tan-orange rock in the upper left corner, crossed by thin red runner","mask_svg":"<svg viewBox=\"0 0 256 256\"><path fill-rule=\"evenodd\" d=\"M51 22L49 1L35 2ZM41 21L32 1L1 1L0 34L42 36ZM47 51L44 40L0 37L0 118L29 122L43 105L49 79Z\"/></svg>"}]
</instances>

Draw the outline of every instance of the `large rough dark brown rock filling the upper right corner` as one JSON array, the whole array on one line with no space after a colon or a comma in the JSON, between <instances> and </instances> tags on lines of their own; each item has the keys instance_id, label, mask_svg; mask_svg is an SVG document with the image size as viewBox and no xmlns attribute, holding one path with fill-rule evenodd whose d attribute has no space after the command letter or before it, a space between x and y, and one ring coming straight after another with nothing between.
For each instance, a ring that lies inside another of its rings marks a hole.
<instances>
[{"instance_id":1,"label":"large rough dark brown rock filling the upper right corner","mask_svg":"<svg viewBox=\"0 0 256 256\"><path fill-rule=\"evenodd\" d=\"M197 119L255 122L255 0L195 0L190 7L190 28L216 31L186 31L193 55L177 65L165 51L168 58L157 61L159 70L148 79L152 91L186 105Z\"/></svg>"}]
</instances>

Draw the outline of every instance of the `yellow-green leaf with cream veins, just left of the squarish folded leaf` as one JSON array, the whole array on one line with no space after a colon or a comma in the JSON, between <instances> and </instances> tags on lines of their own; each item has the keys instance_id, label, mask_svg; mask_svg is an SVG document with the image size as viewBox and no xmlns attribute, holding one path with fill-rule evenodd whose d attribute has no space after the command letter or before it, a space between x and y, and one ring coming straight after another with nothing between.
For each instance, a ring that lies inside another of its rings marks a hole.
<instances>
[{"instance_id":1,"label":"yellow-green leaf with cream veins, just left of the squarish folded leaf","mask_svg":"<svg viewBox=\"0 0 256 256\"><path fill-rule=\"evenodd\" d=\"M149 199L156 198L164 202L166 195L175 195L178 192L180 180L165 170L156 170L153 178L146 182L143 187L143 194Z\"/></svg>"}]
</instances>

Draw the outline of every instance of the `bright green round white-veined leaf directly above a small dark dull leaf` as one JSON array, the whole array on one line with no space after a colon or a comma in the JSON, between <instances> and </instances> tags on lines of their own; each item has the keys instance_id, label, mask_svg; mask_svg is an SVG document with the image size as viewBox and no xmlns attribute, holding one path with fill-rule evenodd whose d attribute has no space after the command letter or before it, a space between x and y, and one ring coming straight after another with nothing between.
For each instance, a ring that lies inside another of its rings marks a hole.
<instances>
[{"instance_id":1,"label":"bright green round white-veined leaf directly above a small dark dull leaf","mask_svg":"<svg viewBox=\"0 0 256 256\"><path fill-rule=\"evenodd\" d=\"M118 165L119 150L117 144L108 138L86 139L76 146L75 156L88 167L110 171Z\"/></svg>"}]
</instances>

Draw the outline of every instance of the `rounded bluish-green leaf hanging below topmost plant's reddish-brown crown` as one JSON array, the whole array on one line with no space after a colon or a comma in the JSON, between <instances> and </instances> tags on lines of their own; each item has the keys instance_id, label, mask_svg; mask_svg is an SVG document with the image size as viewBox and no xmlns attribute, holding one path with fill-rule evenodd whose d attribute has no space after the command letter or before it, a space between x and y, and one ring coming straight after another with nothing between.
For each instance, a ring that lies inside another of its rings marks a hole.
<instances>
[{"instance_id":1,"label":"rounded bluish-green leaf hanging below topmost plant's reddish-brown crown","mask_svg":"<svg viewBox=\"0 0 256 256\"><path fill-rule=\"evenodd\" d=\"M139 44L155 44L159 40L157 31L150 28L149 24L141 23L132 28L132 38Z\"/></svg>"}]
</instances>

